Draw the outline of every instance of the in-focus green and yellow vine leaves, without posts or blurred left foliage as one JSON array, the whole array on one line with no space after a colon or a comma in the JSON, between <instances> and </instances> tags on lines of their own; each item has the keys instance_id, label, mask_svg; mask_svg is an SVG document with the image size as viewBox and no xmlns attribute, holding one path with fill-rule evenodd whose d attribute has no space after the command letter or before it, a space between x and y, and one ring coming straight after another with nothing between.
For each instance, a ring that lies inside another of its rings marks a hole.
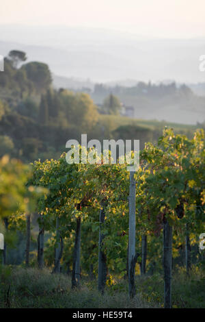
<instances>
[{"instance_id":1,"label":"in-focus green and yellow vine leaves, without posts or blurred left foliage","mask_svg":"<svg viewBox=\"0 0 205 322\"><path fill-rule=\"evenodd\" d=\"M86 271L90 264L97 271L98 215L103 204L106 216L101 230L109 271L124 275L128 245L128 172L126 164L99 161L98 164L68 164L63 154L59 160L35 162L32 184L49 188L49 195L38 203L46 230L55 232L55 221L59 218L61 236L73 238L75 219L81 217L82 260ZM204 229L203 132L197 131L189 140L175 135L172 129L165 129L157 146L148 143L141 151L141 166L135 179L137 251L141 252L141 236L147 234L148 269L152 271L154 265L160 270L160 236L165 219L174 227L174 258L187 235L187 225L195 243Z\"/></svg>"}]
</instances>

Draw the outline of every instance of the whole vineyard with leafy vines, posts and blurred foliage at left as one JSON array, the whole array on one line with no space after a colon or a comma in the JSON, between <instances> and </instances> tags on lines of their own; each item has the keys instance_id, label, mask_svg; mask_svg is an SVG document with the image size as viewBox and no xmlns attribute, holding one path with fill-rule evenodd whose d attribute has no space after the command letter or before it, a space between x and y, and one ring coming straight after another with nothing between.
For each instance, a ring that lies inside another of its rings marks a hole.
<instances>
[{"instance_id":1,"label":"whole vineyard with leafy vines, posts and blurred foliage at left","mask_svg":"<svg viewBox=\"0 0 205 322\"><path fill-rule=\"evenodd\" d=\"M186 307L181 295L174 293L176 286L172 289L177 284L173 274L184 271L184 287L193 275L200 276L201 284L204 281L205 250L199 247L205 232L204 132L198 129L189 140L165 128L157 145L146 143L139 160L139 169L129 173L127 164L120 162L68 164L66 153L59 160L38 160L30 166L4 156L0 160L3 232L25 234L25 262L20 264L25 274L37 269L33 278L35 274L40 278L47 269L53 280L61 275L62 292L68 279L77 292L83 292L89 280L93 288L97 283L93 293L89 290L90 297L99 301L105 296L112 301L112 294L123 288L133 306L139 292L143 295L152 287L159 274L164 289L160 288L157 306ZM36 214L38 248L31 252L31 219ZM9 237L2 251L5 267L8 250ZM18 267L9 267L18 275ZM2 298L10 292L5 285L1 290ZM76 305L81 305L78 301ZM141 305L146 307L146 301L148 297L143 297Z\"/></svg>"}]
</instances>

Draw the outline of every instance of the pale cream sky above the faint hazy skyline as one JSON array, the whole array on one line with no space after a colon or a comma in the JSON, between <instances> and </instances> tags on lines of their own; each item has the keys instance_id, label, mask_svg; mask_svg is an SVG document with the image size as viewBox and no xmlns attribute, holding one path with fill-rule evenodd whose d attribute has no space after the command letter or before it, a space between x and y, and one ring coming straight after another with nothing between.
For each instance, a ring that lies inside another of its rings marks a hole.
<instances>
[{"instance_id":1,"label":"pale cream sky above the faint hazy skyline","mask_svg":"<svg viewBox=\"0 0 205 322\"><path fill-rule=\"evenodd\" d=\"M103 27L139 36L205 36L205 0L0 0L1 24Z\"/></svg>"}]
</instances>

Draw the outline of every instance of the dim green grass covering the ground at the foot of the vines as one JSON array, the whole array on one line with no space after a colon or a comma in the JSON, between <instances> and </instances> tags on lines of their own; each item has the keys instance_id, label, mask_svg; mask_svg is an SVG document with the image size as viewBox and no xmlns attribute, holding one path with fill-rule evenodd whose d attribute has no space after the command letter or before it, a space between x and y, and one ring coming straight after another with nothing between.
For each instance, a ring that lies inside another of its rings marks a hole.
<instances>
[{"instance_id":1,"label":"dim green grass covering the ground at the foot of the vines","mask_svg":"<svg viewBox=\"0 0 205 322\"><path fill-rule=\"evenodd\" d=\"M83 277L79 290L71 290L70 277L48 269L1 267L0 308L162 308L163 276L137 276L137 295L128 297L128 283L115 281L104 295L96 281ZM172 280L173 308L205 308L205 273L193 268L187 276L178 269Z\"/></svg>"}]
</instances>

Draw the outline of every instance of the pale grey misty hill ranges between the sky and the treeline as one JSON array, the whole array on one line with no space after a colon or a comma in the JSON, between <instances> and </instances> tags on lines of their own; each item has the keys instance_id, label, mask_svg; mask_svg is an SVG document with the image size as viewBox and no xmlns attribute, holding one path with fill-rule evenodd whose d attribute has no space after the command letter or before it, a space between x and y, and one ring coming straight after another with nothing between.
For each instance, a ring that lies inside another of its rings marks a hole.
<instances>
[{"instance_id":1,"label":"pale grey misty hill ranges between the sky and the treeline","mask_svg":"<svg viewBox=\"0 0 205 322\"><path fill-rule=\"evenodd\" d=\"M199 71L199 57L205 53L202 38L145 39L109 29L20 25L0 25L0 35L1 55L15 46L25 50L29 60L49 64L56 75L94 82L205 81Z\"/></svg>"}]
</instances>

